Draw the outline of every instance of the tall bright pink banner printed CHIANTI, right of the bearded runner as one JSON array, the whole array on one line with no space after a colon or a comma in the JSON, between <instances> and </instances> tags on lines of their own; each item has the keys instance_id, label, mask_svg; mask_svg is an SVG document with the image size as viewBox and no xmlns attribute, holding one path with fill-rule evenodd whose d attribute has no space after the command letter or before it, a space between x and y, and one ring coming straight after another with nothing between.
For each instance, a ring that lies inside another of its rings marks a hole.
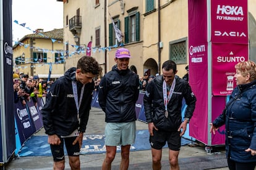
<instances>
[{"instance_id":1,"label":"tall bright pink banner printed CHIANTI, right of the bearded runner","mask_svg":"<svg viewBox=\"0 0 256 170\"><path fill-rule=\"evenodd\" d=\"M200 142L208 138L207 1L189 0L189 84L197 97L189 135ZM202 93L203 91L203 93Z\"/></svg>"}]
</instances>

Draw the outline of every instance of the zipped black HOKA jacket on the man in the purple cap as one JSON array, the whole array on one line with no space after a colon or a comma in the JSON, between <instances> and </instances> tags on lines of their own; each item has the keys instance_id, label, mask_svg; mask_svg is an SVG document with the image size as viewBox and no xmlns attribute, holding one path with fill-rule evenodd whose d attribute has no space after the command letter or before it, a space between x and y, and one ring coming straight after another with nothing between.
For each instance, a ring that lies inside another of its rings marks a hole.
<instances>
[{"instance_id":1,"label":"zipped black HOKA jacket on the man in the purple cap","mask_svg":"<svg viewBox=\"0 0 256 170\"><path fill-rule=\"evenodd\" d=\"M136 120L135 104L139 97L139 76L127 70L112 70L101 79L98 101L106 113L106 122Z\"/></svg>"}]
</instances>

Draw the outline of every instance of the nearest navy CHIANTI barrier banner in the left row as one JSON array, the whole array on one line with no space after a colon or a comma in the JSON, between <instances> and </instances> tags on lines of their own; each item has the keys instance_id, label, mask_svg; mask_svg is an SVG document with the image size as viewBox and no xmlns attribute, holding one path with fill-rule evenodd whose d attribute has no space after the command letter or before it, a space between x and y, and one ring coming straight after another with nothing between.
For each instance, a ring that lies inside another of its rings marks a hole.
<instances>
[{"instance_id":1,"label":"nearest navy CHIANTI barrier banner in the left row","mask_svg":"<svg viewBox=\"0 0 256 170\"><path fill-rule=\"evenodd\" d=\"M23 143L35 133L35 127L33 127L27 107L23 106L21 102L15 103L14 106L14 116L19 131L20 143Z\"/></svg>"}]
</instances>

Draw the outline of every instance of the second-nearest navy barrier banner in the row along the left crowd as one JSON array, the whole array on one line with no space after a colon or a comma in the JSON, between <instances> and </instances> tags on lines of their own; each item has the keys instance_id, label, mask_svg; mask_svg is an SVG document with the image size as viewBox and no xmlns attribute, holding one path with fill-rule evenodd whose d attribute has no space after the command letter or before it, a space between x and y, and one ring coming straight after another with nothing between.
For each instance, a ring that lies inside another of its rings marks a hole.
<instances>
[{"instance_id":1,"label":"second-nearest navy barrier banner in the row along the left crowd","mask_svg":"<svg viewBox=\"0 0 256 170\"><path fill-rule=\"evenodd\" d=\"M36 109L33 100L27 101L27 106L30 113L30 119L32 119L33 125L35 125L35 130L37 131L43 127L43 120L40 119L38 109Z\"/></svg>"}]
</instances>

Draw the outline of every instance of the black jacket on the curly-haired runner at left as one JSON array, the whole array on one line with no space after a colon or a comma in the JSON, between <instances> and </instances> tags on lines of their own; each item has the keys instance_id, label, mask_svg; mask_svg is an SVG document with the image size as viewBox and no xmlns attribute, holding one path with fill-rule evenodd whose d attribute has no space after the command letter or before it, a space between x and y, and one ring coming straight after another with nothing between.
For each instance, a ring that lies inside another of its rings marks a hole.
<instances>
[{"instance_id":1,"label":"black jacket on the curly-haired runner at left","mask_svg":"<svg viewBox=\"0 0 256 170\"><path fill-rule=\"evenodd\" d=\"M79 120L77 119L77 106L75 105L72 81L75 79L76 68L67 70L64 76L57 79L46 95L46 104L41 109L43 125L48 135L69 135L75 129L85 132L91 109L92 91L94 83L87 83L83 91L82 103L79 108ZM77 95L80 99L82 83L77 82Z\"/></svg>"}]
</instances>

